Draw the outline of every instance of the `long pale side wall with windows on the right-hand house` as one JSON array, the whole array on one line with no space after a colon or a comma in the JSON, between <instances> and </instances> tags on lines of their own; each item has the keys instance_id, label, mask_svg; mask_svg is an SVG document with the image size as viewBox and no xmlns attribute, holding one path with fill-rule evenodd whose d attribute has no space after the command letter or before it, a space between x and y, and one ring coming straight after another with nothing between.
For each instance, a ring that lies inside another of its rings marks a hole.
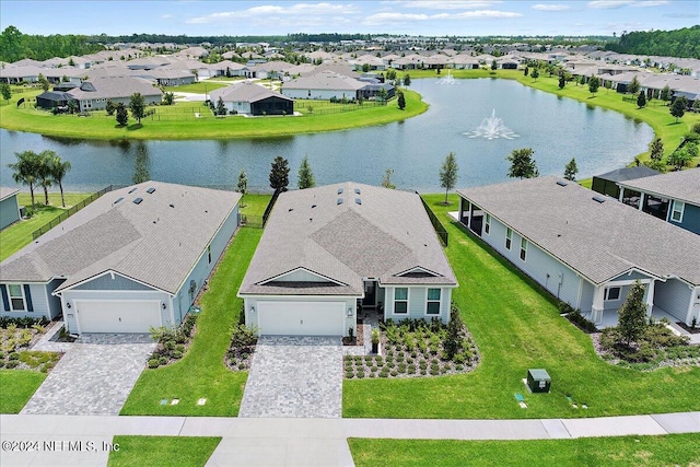
<instances>
[{"instance_id":1,"label":"long pale side wall with windows on the right-hand house","mask_svg":"<svg viewBox=\"0 0 700 467\"><path fill-rule=\"evenodd\" d=\"M579 275L564 264L527 242L525 260L520 258L522 236L512 231L511 249L505 248L506 226L491 217L489 233L486 233L486 217L481 238L503 255L514 266L533 278L549 293L573 307L579 306ZM583 308L581 310L584 311Z\"/></svg>"}]
</instances>

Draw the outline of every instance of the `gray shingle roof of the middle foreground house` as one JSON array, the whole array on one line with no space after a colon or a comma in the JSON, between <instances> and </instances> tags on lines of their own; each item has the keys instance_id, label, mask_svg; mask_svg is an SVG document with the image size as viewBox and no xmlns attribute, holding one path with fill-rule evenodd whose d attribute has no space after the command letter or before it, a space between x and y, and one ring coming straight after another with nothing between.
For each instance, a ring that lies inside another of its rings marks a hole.
<instances>
[{"instance_id":1,"label":"gray shingle roof of the middle foreground house","mask_svg":"<svg viewBox=\"0 0 700 467\"><path fill-rule=\"evenodd\" d=\"M398 276L417 267L438 276ZM340 285L265 283L299 268ZM240 293L361 295L363 278L383 284L457 284L418 195L357 183L282 194Z\"/></svg>"}]
</instances>

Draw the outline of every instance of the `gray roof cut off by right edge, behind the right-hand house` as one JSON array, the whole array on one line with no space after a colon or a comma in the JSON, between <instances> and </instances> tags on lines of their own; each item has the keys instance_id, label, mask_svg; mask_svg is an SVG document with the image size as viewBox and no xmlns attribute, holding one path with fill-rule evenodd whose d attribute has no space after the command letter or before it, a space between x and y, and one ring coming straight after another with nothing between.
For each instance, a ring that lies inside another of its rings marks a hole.
<instances>
[{"instance_id":1,"label":"gray roof cut off by right edge, behind the right-hand house","mask_svg":"<svg viewBox=\"0 0 700 467\"><path fill-rule=\"evenodd\" d=\"M618 185L700 206L700 168L621 182Z\"/></svg>"}]
</instances>

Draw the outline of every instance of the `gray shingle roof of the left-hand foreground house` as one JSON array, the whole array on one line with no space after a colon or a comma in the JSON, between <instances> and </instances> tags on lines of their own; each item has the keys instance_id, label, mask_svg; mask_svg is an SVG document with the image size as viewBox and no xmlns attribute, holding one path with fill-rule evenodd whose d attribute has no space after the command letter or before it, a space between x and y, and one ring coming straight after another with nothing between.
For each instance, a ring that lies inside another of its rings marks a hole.
<instances>
[{"instance_id":1,"label":"gray shingle roof of the left-hand foreground house","mask_svg":"<svg viewBox=\"0 0 700 467\"><path fill-rule=\"evenodd\" d=\"M149 187L155 191L148 194ZM133 203L139 197L143 201ZM2 261L0 280L66 276L65 289L113 270L175 293L240 199L161 182L107 192Z\"/></svg>"}]
</instances>

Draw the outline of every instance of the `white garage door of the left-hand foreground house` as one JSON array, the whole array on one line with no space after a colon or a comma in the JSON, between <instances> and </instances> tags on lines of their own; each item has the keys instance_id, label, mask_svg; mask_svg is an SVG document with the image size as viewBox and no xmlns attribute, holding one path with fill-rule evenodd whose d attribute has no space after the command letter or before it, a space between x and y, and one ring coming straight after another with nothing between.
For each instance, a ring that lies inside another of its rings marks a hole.
<instances>
[{"instance_id":1,"label":"white garage door of the left-hand foreground house","mask_svg":"<svg viewBox=\"0 0 700 467\"><path fill-rule=\"evenodd\" d=\"M160 302L75 301L81 332L148 332L161 326Z\"/></svg>"}]
</instances>

